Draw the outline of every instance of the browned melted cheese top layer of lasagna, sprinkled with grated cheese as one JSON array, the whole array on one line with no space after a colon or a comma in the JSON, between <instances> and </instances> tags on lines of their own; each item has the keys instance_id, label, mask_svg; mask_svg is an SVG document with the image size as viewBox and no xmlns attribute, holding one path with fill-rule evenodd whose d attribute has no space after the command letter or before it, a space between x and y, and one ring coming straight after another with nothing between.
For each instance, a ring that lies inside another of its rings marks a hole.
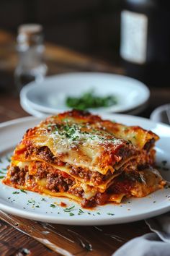
<instances>
[{"instance_id":1,"label":"browned melted cheese top layer of lasagna, sprinkled with grated cheese","mask_svg":"<svg viewBox=\"0 0 170 256\"><path fill-rule=\"evenodd\" d=\"M73 116L73 112L51 116L24 135L14 155L19 155L28 145L48 147L65 163L107 174L108 170L114 171L115 164L139 153L128 137L117 137L115 131L113 134L111 124L109 121L106 126L105 121L90 114L84 118Z\"/></svg>"}]
</instances>

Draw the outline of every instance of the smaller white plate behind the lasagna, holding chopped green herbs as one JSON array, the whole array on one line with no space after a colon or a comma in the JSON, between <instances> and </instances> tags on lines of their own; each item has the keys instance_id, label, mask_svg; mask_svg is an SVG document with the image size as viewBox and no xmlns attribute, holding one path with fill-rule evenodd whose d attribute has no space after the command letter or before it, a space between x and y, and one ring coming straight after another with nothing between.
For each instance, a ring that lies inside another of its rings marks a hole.
<instances>
[{"instance_id":1,"label":"smaller white plate behind the lasagna, holding chopped green herbs","mask_svg":"<svg viewBox=\"0 0 170 256\"><path fill-rule=\"evenodd\" d=\"M68 96L80 96L94 89L97 95L115 95L118 103L101 112L125 112L143 106L149 98L149 90L142 82L117 74L79 72L46 77L41 83L31 82L22 88L20 98L35 111L53 114L67 110ZM91 110L91 109L90 109ZM92 109L94 111L94 109Z\"/></svg>"}]
</instances>

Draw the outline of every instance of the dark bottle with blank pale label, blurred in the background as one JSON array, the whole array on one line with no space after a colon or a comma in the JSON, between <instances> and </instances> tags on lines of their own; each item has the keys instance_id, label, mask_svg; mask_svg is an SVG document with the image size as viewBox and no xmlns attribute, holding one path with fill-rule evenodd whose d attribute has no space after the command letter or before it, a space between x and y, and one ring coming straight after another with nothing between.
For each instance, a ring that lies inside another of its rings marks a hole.
<instances>
[{"instance_id":1,"label":"dark bottle with blank pale label, blurred in the background","mask_svg":"<svg viewBox=\"0 0 170 256\"><path fill-rule=\"evenodd\" d=\"M120 29L125 73L147 85L170 86L170 1L125 0Z\"/></svg>"}]
</instances>

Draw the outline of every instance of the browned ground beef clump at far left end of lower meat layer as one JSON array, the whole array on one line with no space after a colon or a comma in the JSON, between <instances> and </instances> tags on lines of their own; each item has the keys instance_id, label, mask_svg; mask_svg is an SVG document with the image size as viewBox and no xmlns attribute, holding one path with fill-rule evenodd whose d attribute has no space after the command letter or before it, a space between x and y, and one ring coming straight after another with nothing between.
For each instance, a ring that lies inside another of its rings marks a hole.
<instances>
[{"instance_id":1,"label":"browned ground beef clump at far left end of lower meat layer","mask_svg":"<svg viewBox=\"0 0 170 256\"><path fill-rule=\"evenodd\" d=\"M12 168L10 169L10 181L13 184L19 184L19 185L24 185L24 181L25 181L25 171L22 169L20 170L19 167L17 166L12 166Z\"/></svg>"}]
</instances>

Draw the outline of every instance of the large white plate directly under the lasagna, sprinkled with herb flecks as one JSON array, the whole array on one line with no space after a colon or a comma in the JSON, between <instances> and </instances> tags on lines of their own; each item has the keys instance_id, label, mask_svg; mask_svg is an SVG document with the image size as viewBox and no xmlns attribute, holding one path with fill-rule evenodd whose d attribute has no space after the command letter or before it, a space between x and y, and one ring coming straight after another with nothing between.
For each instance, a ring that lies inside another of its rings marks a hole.
<instances>
[{"instance_id":1,"label":"large white plate directly under the lasagna, sprinkled with herb flecks","mask_svg":"<svg viewBox=\"0 0 170 256\"><path fill-rule=\"evenodd\" d=\"M156 124L148 119L120 114L102 115L105 119L114 119L128 125L140 125L143 128L156 132L161 139L156 144L156 161L162 165L162 161L168 161L166 168L170 168L170 127L164 124ZM27 117L0 124L0 170L5 172L8 158L12 150L21 140L25 130L34 127L40 119ZM164 179L170 181L170 171L164 168L161 170ZM1 174L3 176L4 174ZM48 197L35 192L21 192L19 189L5 186L0 182L0 209L16 216L30 218L37 221L61 223L70 225L105 225L112 223L125 223L138 221L144 218L165 213L170 210L170 188L158 190L157 192L143 198L132 198L124 200L120 205L108 204L98 206L94 210L84 210L71 200L65 198ZM14 193L14 192L18 192ZM43 199L44 198L44 199ZM69 212L60 206L65 202L67 208L73 207ZM51 207L51 205L54 205ZM83 210L83 213L81 210ZM71 213L71 215L70 215Z\"/></svg>"}]
</instances>

